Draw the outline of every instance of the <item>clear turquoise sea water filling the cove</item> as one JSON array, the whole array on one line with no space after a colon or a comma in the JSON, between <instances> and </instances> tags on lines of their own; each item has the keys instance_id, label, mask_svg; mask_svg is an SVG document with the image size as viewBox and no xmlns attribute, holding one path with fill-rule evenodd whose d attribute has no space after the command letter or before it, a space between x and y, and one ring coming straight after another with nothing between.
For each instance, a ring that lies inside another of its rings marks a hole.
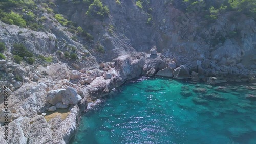
<instances>
[{"instance_id":1,"label":"clear turquoise sea water filling the cove","mask_svg":"<svg viewBox=\"0 0 256 144\"><path fill-rule=\"evenodd\" d=\"M84 114L71 143L256 143L256 101L245 98L255 89L134 80Z\"/></svg>"}]
</instances>

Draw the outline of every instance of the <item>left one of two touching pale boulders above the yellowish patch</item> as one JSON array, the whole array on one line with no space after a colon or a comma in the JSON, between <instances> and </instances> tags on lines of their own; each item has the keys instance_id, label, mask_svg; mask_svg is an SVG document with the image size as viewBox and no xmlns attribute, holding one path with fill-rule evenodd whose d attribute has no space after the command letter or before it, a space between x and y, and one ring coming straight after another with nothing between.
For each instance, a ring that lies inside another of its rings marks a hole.
<instances>
[{"instance_id":1,"label":"left one of two touching pale boulders above the yellowish patch","mask_svg":"<svg viewBox=\"0 0 256 144\"><path fill-rule=\"evenodd\" d=\"M62 95L65 92L65 89L51 90L48 91L46 100L52 104L56 105L58 102L62 102Z\"/></svg>"}]
</instances>

